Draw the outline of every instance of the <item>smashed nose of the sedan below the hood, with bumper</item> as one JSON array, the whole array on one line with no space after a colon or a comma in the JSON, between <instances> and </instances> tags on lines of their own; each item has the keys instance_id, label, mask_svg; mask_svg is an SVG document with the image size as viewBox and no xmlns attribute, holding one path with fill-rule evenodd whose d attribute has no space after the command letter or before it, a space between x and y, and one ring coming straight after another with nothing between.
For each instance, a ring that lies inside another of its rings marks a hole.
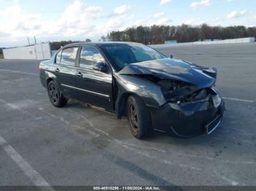
<instances>
[{"instance_id":1,"label":"smashed nose of the sedan below the hood, with bumper","mask_svg":"<svg viewBox=\"0 0 256 191\"><path fill-rule=\"evenodd\" d=\"M163 94L167 103L151 109L154 127L174 136L192 137L211 133L222 120L225 110L219 92L214 87L197 90L193 85L180 83ZM161 120L161 119L168 120Z\"/></svg>"}]
</instances>

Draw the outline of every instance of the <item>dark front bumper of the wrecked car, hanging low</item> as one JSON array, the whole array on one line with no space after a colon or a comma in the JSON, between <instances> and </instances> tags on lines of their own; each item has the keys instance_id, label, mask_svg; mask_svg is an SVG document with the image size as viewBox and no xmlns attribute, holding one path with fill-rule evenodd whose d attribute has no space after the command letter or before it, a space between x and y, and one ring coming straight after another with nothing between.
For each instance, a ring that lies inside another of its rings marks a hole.
<instances>
[{"instance_id":1,"label":"dark front bumper of the wrecked car, hanging low","mask_svg":"<svg viewBox=\"0 0 256 191\"><path fill-rule=\"evenodd\" d=\"M225 103L219 92L211 89L211 94L203 101L189 103L167 103L159 109L151 109L154 129L163 130L178 137L193 137L213 132L220 124Z\"/></svg>"}]
</instances>

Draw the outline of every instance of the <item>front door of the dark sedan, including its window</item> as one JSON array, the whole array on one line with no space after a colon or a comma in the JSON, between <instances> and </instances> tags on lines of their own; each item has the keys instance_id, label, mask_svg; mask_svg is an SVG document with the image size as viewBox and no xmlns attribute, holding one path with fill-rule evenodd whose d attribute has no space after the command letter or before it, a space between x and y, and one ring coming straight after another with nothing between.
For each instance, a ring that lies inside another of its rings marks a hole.
<instances>
[{"instance_id":1,"label":"front door of the dark sedan, including its window","mask_svg":"<svg viewBox=\"0 0 256 191\"><path fill-rule=\"evenodd\" d=\"M79 91L79 99L95 106L113 109L112 70L104 56L94 45L83 45L80 50L79 66L75 87ZM94 69L97 63L105 63L108 71Z\"/></svg>"}]
</instances>

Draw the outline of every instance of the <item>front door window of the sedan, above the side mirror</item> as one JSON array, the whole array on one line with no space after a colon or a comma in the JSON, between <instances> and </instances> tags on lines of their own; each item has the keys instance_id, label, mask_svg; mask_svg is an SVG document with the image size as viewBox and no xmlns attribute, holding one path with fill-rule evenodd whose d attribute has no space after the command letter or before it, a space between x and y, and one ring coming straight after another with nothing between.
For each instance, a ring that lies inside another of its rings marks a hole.
<instances>
[{"instance_id":1,"label":"front door window of the sedan, above the side mirror","mask_svg":"<svg viewBox=\"0 0 256 191\"><path fill-rule=\"evenodd\" d=\"M104 62L104 58L96 47L83 46L80 54L80 67L87 68L97 63Z\"/></svg>"}]
</instances>

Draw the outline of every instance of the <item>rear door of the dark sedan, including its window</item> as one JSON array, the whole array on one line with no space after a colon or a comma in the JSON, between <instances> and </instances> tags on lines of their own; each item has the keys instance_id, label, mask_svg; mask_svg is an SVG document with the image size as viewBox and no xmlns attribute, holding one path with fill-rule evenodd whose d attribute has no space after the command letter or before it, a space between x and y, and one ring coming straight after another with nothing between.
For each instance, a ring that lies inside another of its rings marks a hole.
<instances>
[{"instance_id":1,"label":"rear door of the dark sedan, including its window","mask_svg":"<svg viewBox=\"0 0 256 191\"><path fill-rule=\"evenodd\" d=\"M79 47L66 47L62 50L56 74L62 93L68 98L77 98L74 90L76 66Z\"/></svg>"}]
</instances>

